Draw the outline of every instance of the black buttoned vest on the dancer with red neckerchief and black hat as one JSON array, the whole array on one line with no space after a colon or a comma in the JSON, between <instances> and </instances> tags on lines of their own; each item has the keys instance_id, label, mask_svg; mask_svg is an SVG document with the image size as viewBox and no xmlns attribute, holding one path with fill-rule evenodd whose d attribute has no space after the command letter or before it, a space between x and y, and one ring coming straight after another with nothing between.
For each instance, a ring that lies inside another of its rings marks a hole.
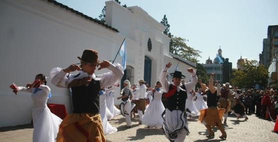
<instances>
[{"instance_id":1,"label":"black buttoned vest on the dancer with red neckerchief and black hat","mask_svg":"<svg viewBox=\"0 0 278 142\"><path fill-rule=\"evenodd\" d=\"M179 92L176 91L174 95L167 98L166 106L168 110L170 111L180 110L182 112L185 110L185 101L187 99L187 94L186 94L185 86L182 85L181 88L184 89L184 91L182 90L179 90ZM171 89L173 89L172 84L169 85L169 91Z\"/></svg>"}]
</instances>

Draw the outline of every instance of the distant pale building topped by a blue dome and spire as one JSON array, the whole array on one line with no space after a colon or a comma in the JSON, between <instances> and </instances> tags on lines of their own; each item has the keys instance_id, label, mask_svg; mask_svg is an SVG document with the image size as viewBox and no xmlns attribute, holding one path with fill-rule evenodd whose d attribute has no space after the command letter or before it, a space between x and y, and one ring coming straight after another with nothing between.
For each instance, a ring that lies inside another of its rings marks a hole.
<instances>
[{"instance_id":1,"label":"distant pale building topped by a blue dome and spire","mask_svg":"<svg viewBox=\"0 0 278 142\"><path fill-rule=\"evenodd\" d=\"M215 73L215 80L219 83L229 82L232 74L232 63L228 61L228 58L222 56L222 50L219 48L216 57L212 60L210 57L205 61L202 66L205 68L206 73Z\"/></svg>"}]
</instances>

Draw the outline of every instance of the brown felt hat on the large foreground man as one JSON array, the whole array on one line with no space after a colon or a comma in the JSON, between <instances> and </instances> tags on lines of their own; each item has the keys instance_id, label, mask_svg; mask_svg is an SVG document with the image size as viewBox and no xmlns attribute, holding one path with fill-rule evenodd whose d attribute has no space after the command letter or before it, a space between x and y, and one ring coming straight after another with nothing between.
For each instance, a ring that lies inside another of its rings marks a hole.
<instances>
[{"instance_id":1,"label":"brown felt hat on the large foreground man","mask_svg":"<svg viewBox=\"0 0 278 142\"><path fill-rule=\"evenodd\" d=\"M80 57L77 58L81 61L88 62L88 63L99 62L97 51L92 49L85 49L83 51L81 58Z\"/></svg>"}]
</instances>

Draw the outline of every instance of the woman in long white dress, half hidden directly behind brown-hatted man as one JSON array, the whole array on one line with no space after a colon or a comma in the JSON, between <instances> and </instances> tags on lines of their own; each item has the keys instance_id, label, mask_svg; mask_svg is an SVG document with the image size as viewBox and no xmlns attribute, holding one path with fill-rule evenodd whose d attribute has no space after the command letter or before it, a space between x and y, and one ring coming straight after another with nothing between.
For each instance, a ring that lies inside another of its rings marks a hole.
<instances>
[{"instance_id":1,"label":"woman in long white dress, half hidden directly behind brown-hatted man","mask_svg":"<svg viewBox=\"0 0 278 142\"><path fill-rule=\"evenodd\" d=\"M112 134L117 132L115 127L112 127L107 121L106 114L106 95L103 90L99 91L99 113L101 116L102 126L104 130L104 135Z\"/></svg>"}]
</instances>

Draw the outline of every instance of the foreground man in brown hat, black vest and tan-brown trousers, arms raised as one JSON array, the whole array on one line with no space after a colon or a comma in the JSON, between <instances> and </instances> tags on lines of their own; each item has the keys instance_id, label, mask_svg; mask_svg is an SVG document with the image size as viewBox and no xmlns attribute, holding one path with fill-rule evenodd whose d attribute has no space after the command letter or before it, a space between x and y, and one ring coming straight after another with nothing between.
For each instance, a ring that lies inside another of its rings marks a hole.
<instances>
[{"instance_id":1,"label":"foreground man in brown hat, black vest and tan-brown trousers, arms raised","mask_svg":"<svg viewBox=\"0 0 278 142\"><path fill-rule=\"evenodd\" d=\"M54 68L50 72L51 83L61 88L71 88L73 113L60 124L57 142L105 142L102 122L99 115L100 88L112 86L123 76L120 64L99 62L98 53L92 49L83 51L80 67L71 64L65 69ZM95 69L107 68L107 72L97 77ZM77 75L69 72L79 71Z\"/></svg>"}]
</instances>

